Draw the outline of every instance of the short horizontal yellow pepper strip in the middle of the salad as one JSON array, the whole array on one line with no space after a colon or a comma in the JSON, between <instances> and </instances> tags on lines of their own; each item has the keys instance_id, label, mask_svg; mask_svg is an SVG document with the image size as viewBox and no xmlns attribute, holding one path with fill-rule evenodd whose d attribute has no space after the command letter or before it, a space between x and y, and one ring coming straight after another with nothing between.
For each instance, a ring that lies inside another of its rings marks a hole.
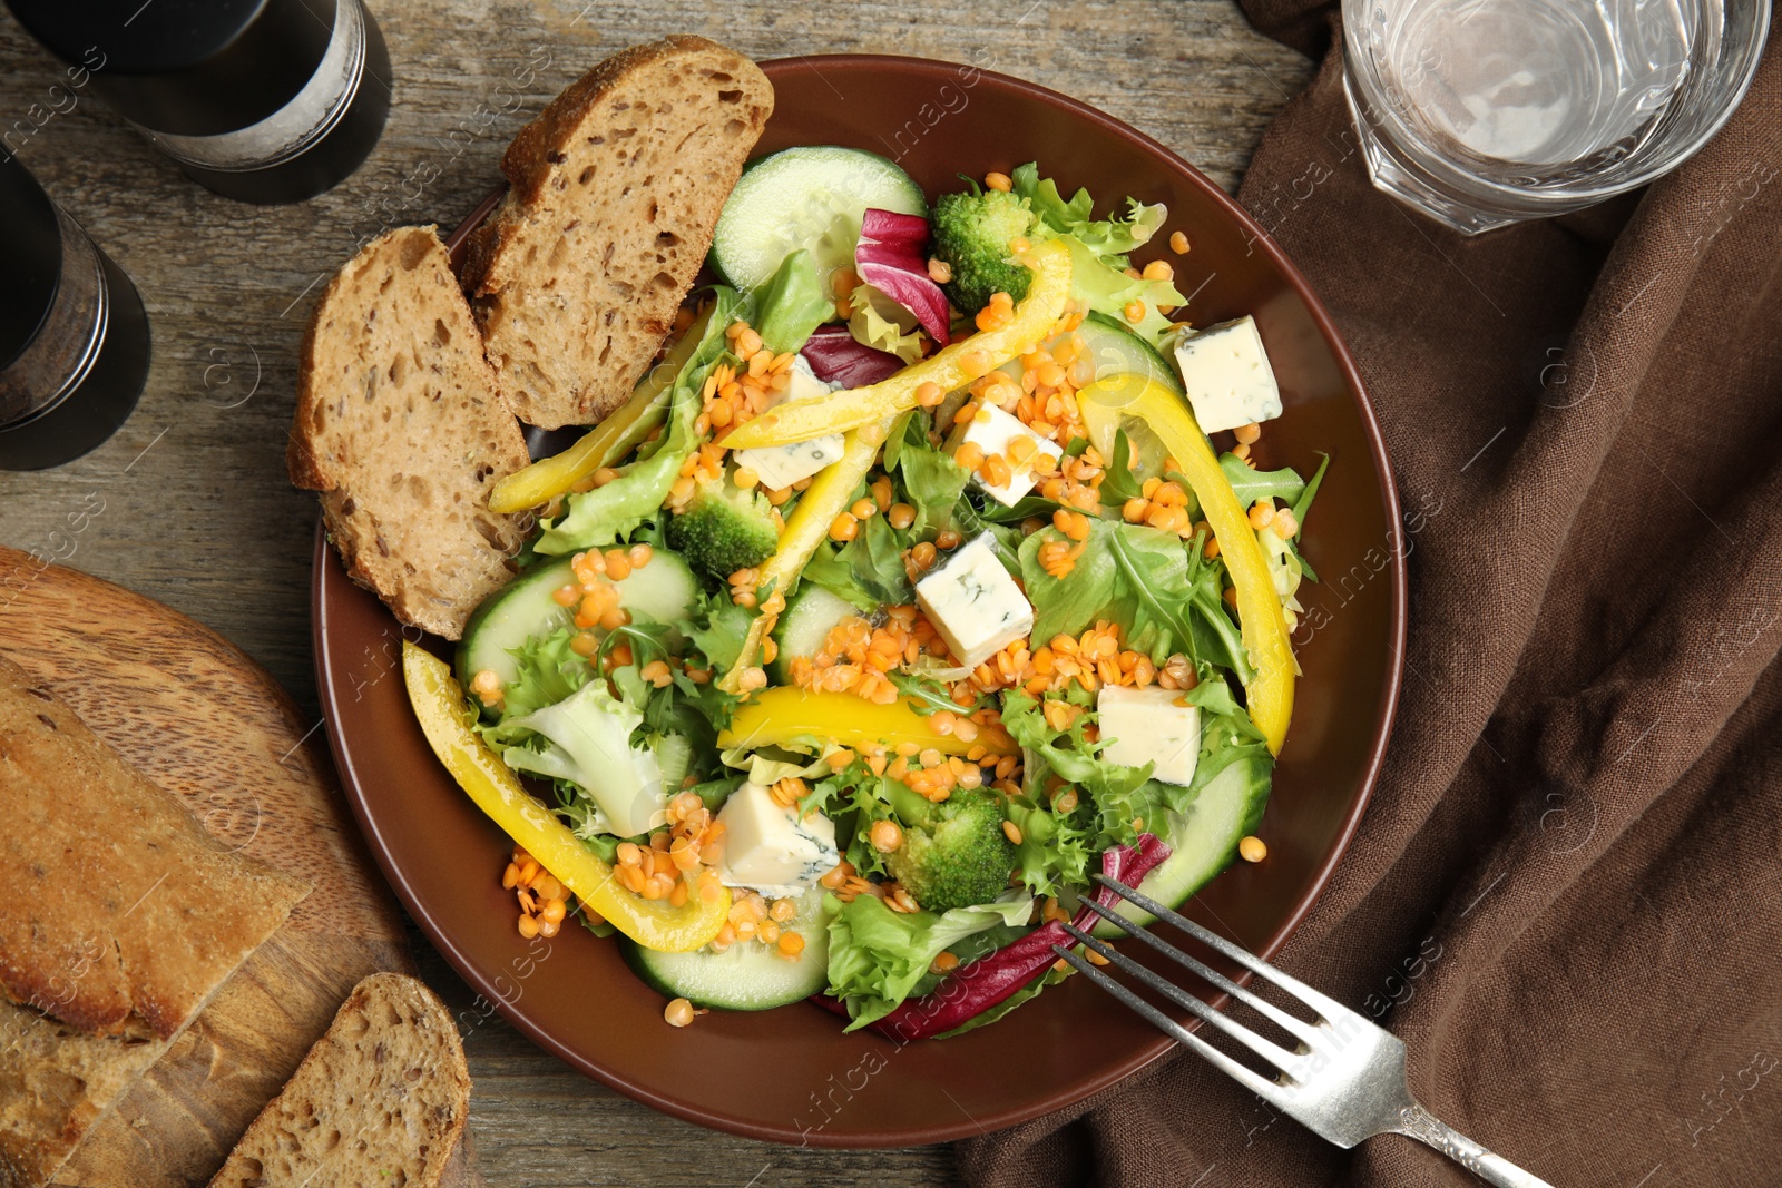
<instances>
[{"instance_id":1,"label":"short horizontal yellow pepper strip in the middle of the salad","mask_svg":"<svg viewBox=\"0 0 1782 1188\"><path fill-rule=\"evenodd\" d=\"M1007 730L980 730L971 741L957 734L941 734L928 718L907 702L879 705L854 693L829 693L779 686L761 689L754 700L740 705L731 725L718 734L718 746L786 746L802 739L820 739L861 750L866 746L896 748L916 743L943 755L964 755L973 746L984 746L991 755L1019 753Z\"/></svg>"}]
</instances>

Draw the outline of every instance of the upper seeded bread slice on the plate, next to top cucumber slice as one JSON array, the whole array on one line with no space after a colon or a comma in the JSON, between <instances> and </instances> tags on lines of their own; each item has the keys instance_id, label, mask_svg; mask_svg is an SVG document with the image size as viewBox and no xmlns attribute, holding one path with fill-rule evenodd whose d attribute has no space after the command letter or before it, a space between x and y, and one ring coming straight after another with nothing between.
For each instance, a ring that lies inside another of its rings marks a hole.
<instances>
[{"instance_id":1,"label":"upper seeded bread slice on the plate, next to top cucumber slice","mask_svg":"<svg viewBox=\"0 0 1782 1188\"><path fill-rule=\"evenodd\" d=\"M520 130L463 285L522 420L592 424L631 395L772 110L754 62L677 36L606 59Z\"/></svg>"}]
</instances>

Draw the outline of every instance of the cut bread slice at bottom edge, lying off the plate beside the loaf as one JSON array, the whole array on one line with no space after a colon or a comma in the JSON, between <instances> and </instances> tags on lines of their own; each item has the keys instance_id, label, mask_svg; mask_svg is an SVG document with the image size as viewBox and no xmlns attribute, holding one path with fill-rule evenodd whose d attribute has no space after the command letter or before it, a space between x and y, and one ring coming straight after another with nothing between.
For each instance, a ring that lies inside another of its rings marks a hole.
<instances>
[{"instance_id":1,"label":"cut bread slice at bottom edge, lying off the plate beside the loaf","mask_svg":"<svg viewBox=\"0 0 1782 1188\"><path fill-rule=\"evenodd\" d=\"M415 978L372 974L210 1188L435 1188L470 1113L458 1026Z\"/></svg>"}]
</instances>

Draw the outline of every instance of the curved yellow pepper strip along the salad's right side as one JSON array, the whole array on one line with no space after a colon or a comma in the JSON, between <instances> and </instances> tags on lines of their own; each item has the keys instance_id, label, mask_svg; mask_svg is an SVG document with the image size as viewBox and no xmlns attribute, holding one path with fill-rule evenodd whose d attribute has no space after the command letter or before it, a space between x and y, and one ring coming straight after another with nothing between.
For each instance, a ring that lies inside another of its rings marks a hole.
<instances>
[{"instance_id":1,"label":"curved yellow pepper strip along the salad's right side","mask_svg":"<svg viewBox=\"0 0 1782 1188\"><path fill-rule=\"evenodd\" d=\"M1237 492L1219 470L1212 442L1201 433L1187 401L1155 379L1135 374L1110 376L1078 392L1078 401L1085 406L1112 404L1126 415L1142 419L1194 488L1201 515L1214 529L1219 556L1231 575L1244 650L1256 666L1255 680L1244 689L1249 720L1262 730L1269 750L1279 755L1287 723L1294 716L1294 647L1287 634L1287 618L1281 614L1281 598L1274 591L1274 577L1269 574L1269 561L1244 506L1237 500Z\"/></svg>"}]
</instances>

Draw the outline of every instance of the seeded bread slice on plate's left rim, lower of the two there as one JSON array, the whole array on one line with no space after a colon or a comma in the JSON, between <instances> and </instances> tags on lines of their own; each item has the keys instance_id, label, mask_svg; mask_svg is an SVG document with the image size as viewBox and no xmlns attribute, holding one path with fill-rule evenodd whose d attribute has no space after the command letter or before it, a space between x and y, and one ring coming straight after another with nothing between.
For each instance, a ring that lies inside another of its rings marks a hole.
<instances>
[{"instance_id":1,"label":"seeded bread slice on plate's left rim, lower of the two there","mask_svg":"<svg viewBox=\"0 0 1782 1188\"><path fill-rule=\"evenodd\" d=\"M488 511L488 492L526 461L438 235L380 235L315 303L287 451L353 581L456 639L511 577L527 524Z\"/></svg>"}]
</instances>

